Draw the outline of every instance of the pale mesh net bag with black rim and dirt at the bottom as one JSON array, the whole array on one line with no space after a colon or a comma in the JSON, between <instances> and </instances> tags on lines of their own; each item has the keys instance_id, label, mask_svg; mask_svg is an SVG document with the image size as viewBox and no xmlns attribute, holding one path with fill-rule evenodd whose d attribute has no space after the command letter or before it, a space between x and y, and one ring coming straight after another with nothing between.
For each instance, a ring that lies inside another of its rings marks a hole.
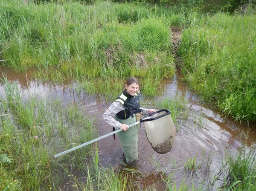
<instances>
[{"instance_id":1,"label":"pale mesh net bag with black rim and dirt at the bottom","mask_svg":"<svg viewBox=\"0 0 256 191\"><path fill-rule=\"evenodd\" d=\"M158 110L140 122L144 122L148 141L157 153L167 153L172 149L175 126L169 110Z\"/></svg>"}]
</instances>

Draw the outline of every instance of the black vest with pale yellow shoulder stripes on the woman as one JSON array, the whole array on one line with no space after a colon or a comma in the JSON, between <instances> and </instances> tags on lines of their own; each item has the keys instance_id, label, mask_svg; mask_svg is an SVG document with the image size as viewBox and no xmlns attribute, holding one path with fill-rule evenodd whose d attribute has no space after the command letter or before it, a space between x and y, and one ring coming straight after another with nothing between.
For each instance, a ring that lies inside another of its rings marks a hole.
<instances>
[{"instance_id":1,"label":"black vest with pale yellow shoulder stripes on the woman","mask_svg":"<svg viewBox=\"0 0 256 191\"><path fill-rule=\"evenodd\" d=\"M116 98L115 101L120 102L125 110L120 111L116 114L119 119L128 119L130 116L133 117L133 114L140 113L140 96L135 94L131 96L126 93L126 91L122 91L122 93Z\"/></svg>"}]
</instances>

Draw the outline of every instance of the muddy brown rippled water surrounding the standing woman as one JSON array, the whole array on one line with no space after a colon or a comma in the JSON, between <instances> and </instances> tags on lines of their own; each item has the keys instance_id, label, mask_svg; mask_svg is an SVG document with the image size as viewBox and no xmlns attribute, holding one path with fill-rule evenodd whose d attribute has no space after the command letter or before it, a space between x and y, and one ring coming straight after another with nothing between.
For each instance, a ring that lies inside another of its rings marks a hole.
<instances>
[{"instance_id":1,"label":"muddy brown rippled water surrounding the standing woman","mask_svg":"<svg viewBox=\"0 0 256 191\"><path fill-rule=\"evenodd\" d=\"M61 83L47 82L33 79L34 69L24 72L12 72L11 69L0 68L6 74L8 80L17 81L18 87L24 96L36 93L38 96L49 99L61 99L64 103L73 102L79 104L85 114L96 119L99 125L99 136L112 131L112 127L102 120L102 114L111 103L106 103L101 96L90 96L87 93L77 93L78 82L63 81ZM164 190L162 177L172 175L177 187L183 179L188 185L198 185L202 182L210 185L214 175L218 174L222 166L225 152L236 154L239 148L245 144L251 145L256 141L255 124L239 124L229 117L221 116L217 109L204 104L198 96L189 90L186 83L181 81L180 75L163 80L164 91L156 99L166 97L175 98L183 95L186 97L189 112L186 119L179 119L176 125L179 130L176 133L172 150L166 154L155 152L147 140L145 127L142 124L139 133L139 164L137 169L142 176L133 176L134 188L144 187L148 190ZM0 85L0 96L5 93ZM120 90L121 91L121 90ZM249 133L248 129L250 129ZM244 133L242 133L244 132ZM247 134L247 138L244 138ZM199 169L196 172L185 170L185 161L190 157L196 157ZM113 140L113 136L99 141L99 160L102 166L115 166L123 162L122 148L119 141ZM200 165L202 164L202 165ZM210 186L220 184L216 181Z\"/></svg>"}]
</instances>

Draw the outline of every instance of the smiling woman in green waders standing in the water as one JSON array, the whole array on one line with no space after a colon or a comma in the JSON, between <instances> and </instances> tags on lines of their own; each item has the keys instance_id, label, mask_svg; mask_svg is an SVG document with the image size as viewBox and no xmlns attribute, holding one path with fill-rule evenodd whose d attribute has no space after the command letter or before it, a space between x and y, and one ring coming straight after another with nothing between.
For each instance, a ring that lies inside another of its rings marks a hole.
<instances>
[{"instance_id":1,"label":"smiling woman in green waders standing in the water","mask_svg":"<svg viewBox=\"0 0 256 191\"><path fill-rule=\"evenodd\" d=\"M138 164L138 133L140 124L128 127L140 120L141 113L150 114L157 110L141 109L139 92L140 83L134 78L127 78L125 89L111 104L108 110L103 114L103 119L115 127L123 131L117 133L122 149L125 154L127 165L135 167Z\"/></svg>"}]
</instances>

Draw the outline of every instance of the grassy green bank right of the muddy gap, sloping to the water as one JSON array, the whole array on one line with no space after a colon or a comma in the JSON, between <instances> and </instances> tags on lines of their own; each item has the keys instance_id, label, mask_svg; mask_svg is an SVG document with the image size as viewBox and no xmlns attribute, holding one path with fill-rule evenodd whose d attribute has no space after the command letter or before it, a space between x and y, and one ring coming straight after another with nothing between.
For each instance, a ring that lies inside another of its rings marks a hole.
<instances>
[{"instance_id":1,"label":"grassy green bank right of the muddy gap, sloping to the water","mask_svg":"<svg viewBox=\"0 0 256 191\"><path fill-rule=\"evenodd\" d=\"M255 14L192 19L178 49L186 80L223 113L255 122Z\"/></svg>"}]
</instances>

